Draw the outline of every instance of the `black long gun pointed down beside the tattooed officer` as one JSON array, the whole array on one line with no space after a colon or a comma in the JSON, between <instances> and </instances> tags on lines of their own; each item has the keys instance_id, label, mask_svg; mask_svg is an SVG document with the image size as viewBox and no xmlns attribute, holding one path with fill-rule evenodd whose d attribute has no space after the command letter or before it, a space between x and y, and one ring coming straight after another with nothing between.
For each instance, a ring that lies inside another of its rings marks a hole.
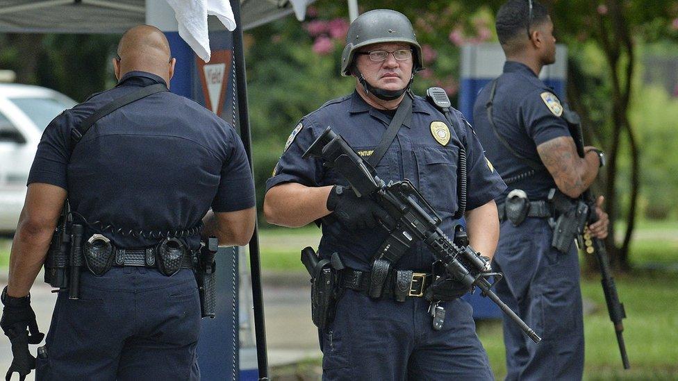
<instances>
[{"instance_id":1,"label":"black long gun pointed down beside the tattooed officer","mask_svg":"<svg viewBox=\"0 0 678 381\"><path fill-rule=\"evenodd\" d=\"M577 146L577 153L581 158L584 158L586 152L584 152L584 133L581 130L581 122L579 120L579 115L565 108L565 119L568 120L568 125L570 126L570 132L574 138L574 145ZM590 225L598 221L598 214L595 211L596 203L595 197L590 189L580 196L581 201L588 205L588 219L586 223ZM617 287L615 285L614 278L612 277L612 271L610 269L610 260L607 256L607 251L605 250L604 243L597 237L593 237L588 232L584 232L581 241L584 243L584 248L586 253L595 255L595 259L598 262L598 267L600 268L600 275L602 276L601 282L603 287L603 293L605 294L605 301L607 303L607 310L610 314L610 320L614 324L615 333L617 334L617 343L619 344L619 352L622 355L622 364L624 369L629 369L629 357L626 353L626 346L624 344L624 337L622 332L624 332L624 323L622 319L626 318L626 312L624 310L624 305L619 301L619 296L617 294Z\"/></svg>"}]
</instances>

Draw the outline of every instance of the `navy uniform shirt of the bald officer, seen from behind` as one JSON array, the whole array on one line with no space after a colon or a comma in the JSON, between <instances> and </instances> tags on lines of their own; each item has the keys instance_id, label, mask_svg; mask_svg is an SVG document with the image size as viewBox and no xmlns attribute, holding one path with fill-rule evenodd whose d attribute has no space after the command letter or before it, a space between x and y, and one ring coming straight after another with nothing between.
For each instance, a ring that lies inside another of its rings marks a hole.
<instances>
[{"instance_id":1,"label":"navy uniform shirt of the bald officer, seen from behind","mask_svg":"<svg viewBox=\"0 0 678 381\"><path fill-rule=\"evenodd\" d=\"M125 105L99 119L74 145L70 132L83 119L155 83L165 81L132 71L113 89L65 110L44 130L28 176L28 184L66 189L72 210L90 223L86 234L102 233L119 247L160 241L130 231L166 236L195 228L210 207L231 212L254 206L240 137L226 121L183 96L160 92ZM197 248L199 236L188 243Z\"/></svg>"}]
</instances>

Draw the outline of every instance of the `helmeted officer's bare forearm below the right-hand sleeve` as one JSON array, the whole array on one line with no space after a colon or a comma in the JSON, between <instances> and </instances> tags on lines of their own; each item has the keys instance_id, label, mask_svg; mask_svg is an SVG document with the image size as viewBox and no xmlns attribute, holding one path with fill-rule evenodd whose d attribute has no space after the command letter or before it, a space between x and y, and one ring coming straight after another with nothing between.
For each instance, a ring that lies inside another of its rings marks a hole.
<instances>
[{"instance_id":1,"label":"helmeted officer's bare forearm below the right-hand sleeve","mask_svg":"<svg viewBox=\"0 0 678 381\"><path fill-rule=\"evenodd\" d=\"M490 201L465 214L469 245L492 259L499 241L499 216L495 201Z\"/></svg>"}]
</instances>

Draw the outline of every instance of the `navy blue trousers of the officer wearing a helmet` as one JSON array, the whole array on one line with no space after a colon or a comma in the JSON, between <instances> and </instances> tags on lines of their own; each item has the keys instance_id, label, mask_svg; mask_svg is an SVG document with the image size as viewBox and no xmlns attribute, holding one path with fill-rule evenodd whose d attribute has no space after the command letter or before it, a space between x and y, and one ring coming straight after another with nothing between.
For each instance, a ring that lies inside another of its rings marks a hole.
<instances>
[{"instance_id":1,"label":"navy blue trousers of the officer wearing a helmet","mask_svg":"<svg viewBox=\"0 0 678 381\"><path fill-rule=\"evenodd\" d=\"M330 328L320 332L323 380L494 380L472 319L457 299L433 330L429 302L372 300L345 290Z\"/></svg>"}]
</instances>

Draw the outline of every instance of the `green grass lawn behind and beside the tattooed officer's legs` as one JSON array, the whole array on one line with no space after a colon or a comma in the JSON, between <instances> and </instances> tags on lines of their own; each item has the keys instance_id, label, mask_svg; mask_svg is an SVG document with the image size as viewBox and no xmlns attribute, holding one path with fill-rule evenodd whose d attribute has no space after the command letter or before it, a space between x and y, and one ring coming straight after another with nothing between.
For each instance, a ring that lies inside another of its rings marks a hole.
<instances>
[{"instance_id":1,"label":"green grass lawn behind and beside the tattooed officer's legs","mask_svg":"<svg viewBox=\"0 0 678 381\"><path fill-rule=\"evenodd\" d=\"M600 276L584 276L581 292L595 303L584 316L585 380L678 379L678 273L635 271L615 278L628 318L624 320L631 369L622 369L615 332L607 313ZM478 334L497 379L506 375L499 321L481 321Z\"/></svg>"}]
</instances>

